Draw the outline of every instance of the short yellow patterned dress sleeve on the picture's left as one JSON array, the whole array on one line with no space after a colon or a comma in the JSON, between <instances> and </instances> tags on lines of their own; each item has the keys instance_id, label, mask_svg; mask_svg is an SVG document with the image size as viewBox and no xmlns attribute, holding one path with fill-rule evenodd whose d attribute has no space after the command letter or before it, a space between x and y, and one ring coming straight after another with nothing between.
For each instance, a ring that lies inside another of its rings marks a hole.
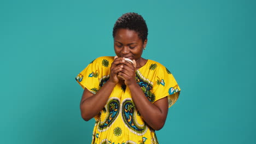
<instances>
[{"instance_id":1,"label":"short yellow patterned dress sleeve on the picture's left","mask_svg":"<svg viewBox=\"0 0 256 144\"><path fill-rule=\"evenodd\" d=\"M91 93L98 92L100 68L98 64L99 58L92 61L84 70L82 70L75 80L82 88L87 88Z\"/></svg>"}]
</instances>

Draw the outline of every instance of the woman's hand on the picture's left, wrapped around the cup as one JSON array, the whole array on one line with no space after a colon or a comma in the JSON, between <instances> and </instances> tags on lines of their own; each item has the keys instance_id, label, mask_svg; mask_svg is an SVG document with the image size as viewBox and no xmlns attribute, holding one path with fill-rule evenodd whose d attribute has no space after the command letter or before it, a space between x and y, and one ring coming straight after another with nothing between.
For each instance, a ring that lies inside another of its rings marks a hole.
<instances>
[{"instance_id":1,"label":"woman's hand on the picture's left, wrapped around the cup","mask_svg":"<svg viewBox=\"0 0 256 144\"><path fill-rule=\"evenodd\" d=\"M117 75L119 71L123 69L124 65L121 63L124 63L124 62L125 62L124 57L117 57L117 56L114 57L114 61L110 67L110 77L109 77L110 82L113 82L113 83L119 82Z\"/></svg>"}]
</instances>

